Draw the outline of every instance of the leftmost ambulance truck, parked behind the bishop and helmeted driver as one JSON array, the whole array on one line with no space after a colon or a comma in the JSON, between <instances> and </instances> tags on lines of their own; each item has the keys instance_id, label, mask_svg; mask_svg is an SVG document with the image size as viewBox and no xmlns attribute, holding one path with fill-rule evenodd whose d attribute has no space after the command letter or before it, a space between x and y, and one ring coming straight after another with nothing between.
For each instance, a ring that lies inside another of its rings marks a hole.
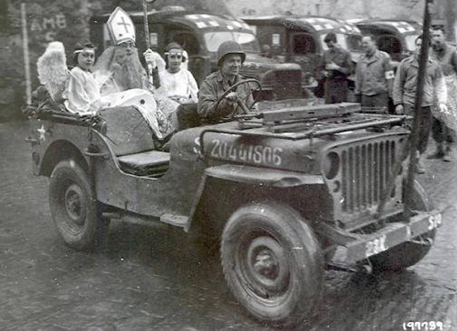
<instances>
[{"instance_id":1,"label":"leftmost ambulance truck, parked behind the bishop and helmeted driver","mask_svg":"<svg viewBox=\"0 0 457 331\"><path fill-rule=\"evenodd\" d=\"M146 49L143 12L129 12L137 34L139 53ZM109 45L107 19L109 14L94 16L90 21L90 36L101 53ZM189 54L189 70L198 85L211 72L218 70L216 52L226 40L241 44L246 61L241 75L259 79L263 90L260 99L301 98L304 92L300 66L281 63L260 56L259 42L243 21L229 16L192 12L175 8L148 14L151 48L164 53L169 42L178 42Z\"/></svg>"}]
</instances>

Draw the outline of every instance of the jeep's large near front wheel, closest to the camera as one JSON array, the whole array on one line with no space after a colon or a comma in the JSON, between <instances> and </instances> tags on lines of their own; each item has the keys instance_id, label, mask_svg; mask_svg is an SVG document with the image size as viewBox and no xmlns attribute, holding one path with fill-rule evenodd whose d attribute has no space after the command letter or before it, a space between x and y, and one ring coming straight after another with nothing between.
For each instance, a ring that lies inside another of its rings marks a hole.
<instances>
[{"instance_id":1,"label":"jeep's large near front wheel, closest to the camera","mask_svg":"<svg viewBox=\"0 0 457 331\"><path fill-rule=\"evenodd\" d=\"M238 209L222 233L221 258L233 295L263 322L303 323L319 302L322 252L311 228L289 207Z\"/></svg>"}]
</instances>

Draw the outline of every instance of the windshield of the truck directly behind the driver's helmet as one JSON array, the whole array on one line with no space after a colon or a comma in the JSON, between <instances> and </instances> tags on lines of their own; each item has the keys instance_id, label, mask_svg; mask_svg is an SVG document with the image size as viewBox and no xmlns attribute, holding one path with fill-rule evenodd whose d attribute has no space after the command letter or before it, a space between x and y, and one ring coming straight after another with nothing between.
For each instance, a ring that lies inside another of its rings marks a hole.
<instances>
[{"instance_id":1,"label":"windshield of the truck directly behind the driver's helmet","mask_svg":"<svg viewBox=\"0 0 457 331\"><path fill-rule=\"evenodd\" d=\"M213 31L207 32L203 38L210 52L218 51L219 45L227 40L238 42L248 53L259 53L260 51L259 42L253 34L248 32Z\"/></svg>"}]
</instances>

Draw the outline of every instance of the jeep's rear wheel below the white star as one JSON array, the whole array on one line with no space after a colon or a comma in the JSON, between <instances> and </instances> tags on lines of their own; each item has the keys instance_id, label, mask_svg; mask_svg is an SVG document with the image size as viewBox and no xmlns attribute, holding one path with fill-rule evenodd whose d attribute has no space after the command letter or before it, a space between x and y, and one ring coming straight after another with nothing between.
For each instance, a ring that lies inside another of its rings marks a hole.
<instances>
[{"instance_id":1,"label":"jeep's rear wheel below the white star","mask_svg":"<svg viewBox=\"0 0 457 331\"><path fill-rule=\"evenodd\" d=\"M49 182L49 204L65 243L77 250L93 248L109 229L101 219L88 175L73 160L57 163Z\"/></svg>"}]
</instances>

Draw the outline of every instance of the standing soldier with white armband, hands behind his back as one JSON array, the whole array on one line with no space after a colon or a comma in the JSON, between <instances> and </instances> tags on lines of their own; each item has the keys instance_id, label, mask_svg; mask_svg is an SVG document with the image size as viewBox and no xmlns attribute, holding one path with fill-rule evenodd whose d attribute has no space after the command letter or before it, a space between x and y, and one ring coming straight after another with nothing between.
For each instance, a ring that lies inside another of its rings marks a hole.
<instances>
[{"instance_id":1,"label":"standing soldier with white armband, hands behind his back","mask_svg":"<svg viewBox=\"0 0 457 331\"><path fill-rule=\"evenodd\" d=\"M356 68L356 100L362 107L387 108L395 77L391 57L378 50L374 36L363 36L362 47L365 54L361 55Z\"/></svg>"}]
</instances>

